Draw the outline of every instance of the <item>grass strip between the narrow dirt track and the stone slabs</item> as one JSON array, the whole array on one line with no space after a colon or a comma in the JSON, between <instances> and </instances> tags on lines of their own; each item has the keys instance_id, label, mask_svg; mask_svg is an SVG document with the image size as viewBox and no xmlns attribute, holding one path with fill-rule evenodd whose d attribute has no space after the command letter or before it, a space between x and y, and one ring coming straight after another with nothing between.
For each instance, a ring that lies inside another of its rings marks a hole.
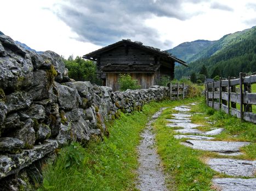
<instances>
[{"instance_id":1,"label":"grass strip between the narrow dirt track and the stone slabs","mask_svg":"<svg viewBox=\"0 0 256 191\"><path fill-rule=\"evenodd\" d=\"M191 100L176 101L169 106L188 103L191 103ZM171 114L172 109L164 110L153 124L158 153L162 158L164 171L168 177L168 188L170 190L211 190L211 180L215 172L200 159L203 156L203 151L183 146L180 144L182 140L174 139L173 128L166 126L166 118L169 118Z\"/></svg>"}]
</instances>

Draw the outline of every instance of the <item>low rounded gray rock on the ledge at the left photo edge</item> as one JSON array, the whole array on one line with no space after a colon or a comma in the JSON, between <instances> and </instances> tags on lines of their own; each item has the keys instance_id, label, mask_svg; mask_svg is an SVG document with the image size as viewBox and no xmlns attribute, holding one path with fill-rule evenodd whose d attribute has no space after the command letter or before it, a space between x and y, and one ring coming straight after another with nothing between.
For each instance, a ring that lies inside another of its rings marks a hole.
<instances>
[{"instance_id":1,"label":"low rounded gray rock on the ledge at the left photo edge","mask_svg":"<svg viewBox=\"0 0 256 191\"><path fill-rule=\"evenodd\" d=\"M24 142L16 138L0 138L0 151L12 152L24 148Z\"/></svg>"}]
</instances>

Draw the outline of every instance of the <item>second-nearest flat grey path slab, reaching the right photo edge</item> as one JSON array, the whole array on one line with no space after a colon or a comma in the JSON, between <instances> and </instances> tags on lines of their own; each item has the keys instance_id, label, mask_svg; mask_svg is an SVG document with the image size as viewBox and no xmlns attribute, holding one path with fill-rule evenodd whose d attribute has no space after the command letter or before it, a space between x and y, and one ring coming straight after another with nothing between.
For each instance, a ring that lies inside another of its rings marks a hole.
<instances>
[{"instance_id":1,"label":"second-nearest flat grey path slab, reaching the right photo edge","mask_svg":"<svg viewBox=\"0 0 256 191\"><path fill-rule=\"evenodd\" d=\"M256 160L251 161L229 158L213 158L208 160L207 164L213 170L230 176L253 177L256 172Z\"/></svg>"}]
</instances>

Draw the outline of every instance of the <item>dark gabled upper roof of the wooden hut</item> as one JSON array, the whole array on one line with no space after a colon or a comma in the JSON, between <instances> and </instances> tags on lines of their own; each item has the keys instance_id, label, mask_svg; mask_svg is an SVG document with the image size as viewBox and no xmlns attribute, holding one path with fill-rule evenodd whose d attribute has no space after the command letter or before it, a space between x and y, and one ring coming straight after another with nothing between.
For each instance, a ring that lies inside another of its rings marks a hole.
<instances>
[{"instance_id":1,"label":"dark gabled upper roof of the wooden hut","mask_svg":"<svg viewBox=\"0 0 256 191\"><path fill-rule=\"evenodd\" d=\"M143 43L139 42L139 41L130 41L129 39L127 40L121 40L121 41L118 41L117 43L114 43L114 44L111 44L109 46L105 46L99 50L95 50L93 52L90 52L90 53L87 53L86 55L83 56L83 58L86 58L86 59L91 59L91 60L96 60L97 57L99 57L99 55L101 53L104 53L104 52L107 52L109 50L112 50L112 49L115 49L116 47L120 46L120 45L131 45L131 46L134 46L134 47L137 47L138 49L142 49L144 51L147 51L147 52L151 52L157 56L161 56L161 58L164 58L166 59L167 61L170 60L170 61L175 61L175 62L178 62L182 65L185 65L186 67L188 66L186 64L186 62L182 61L181 59L171 55L170 53L168 53L167 51L161 51L160 49L157 49L155 47L152 47L152 46L145 46L143 45Z\"/></svg>"}]
</instances>

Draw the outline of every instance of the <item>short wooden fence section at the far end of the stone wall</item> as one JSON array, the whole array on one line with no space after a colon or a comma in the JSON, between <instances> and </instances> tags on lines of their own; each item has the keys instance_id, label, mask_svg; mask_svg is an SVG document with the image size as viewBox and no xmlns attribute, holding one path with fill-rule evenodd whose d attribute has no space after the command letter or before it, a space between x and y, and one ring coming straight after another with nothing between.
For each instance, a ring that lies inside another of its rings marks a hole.
<instances>
[{"instance_id":1,"label":"short wooden fence section at the far end of the stone wall","mask_svg":"<svg viewBox=\"0 0 256 191\"><path fill-rule=\"evenodd\" d=\"M169 88L169 97L170 100L179 100L184 99L187 93L188 86L185 86L184 83L168 84Z\"/></svg>"}]
</instances>

